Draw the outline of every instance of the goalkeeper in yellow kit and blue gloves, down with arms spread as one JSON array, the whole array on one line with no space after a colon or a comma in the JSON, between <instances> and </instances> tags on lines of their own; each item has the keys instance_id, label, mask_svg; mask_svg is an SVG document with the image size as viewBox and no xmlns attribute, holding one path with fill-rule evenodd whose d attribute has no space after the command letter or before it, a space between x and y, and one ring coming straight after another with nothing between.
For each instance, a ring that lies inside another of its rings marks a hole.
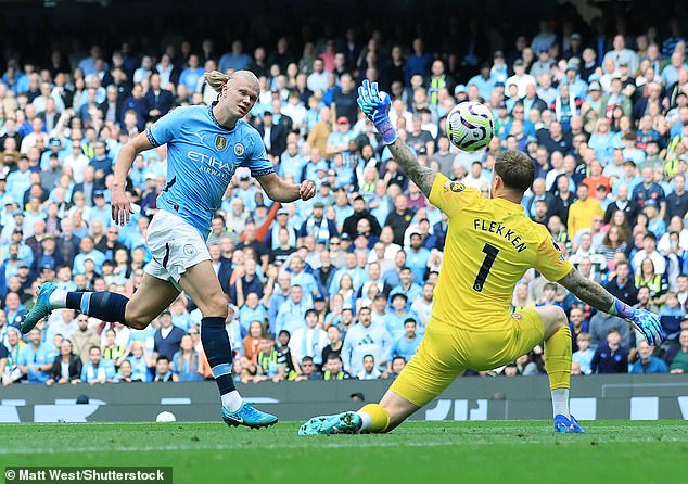
<instances>
[{"instance_id":1,"label":"goalkeeper in yellow kit and blue gloves, down with arms spread","mask_svg":"<svg viewBox=\"0 0 688 484\"><path fill-rule=\"evenodd\" d=\"M583 432L569 412L571 332L565 313L544 306L511 313L523 273L534 267L597 310L627 320L650 345L664 337L659 317L634 309L581 276L547 229L520 205L534 168L519 151L497 155L490 198L421 166L398 139L387 116L390 98L364 80L358 105L373 122L396 162L432 204L449 218L445 256L425 337L382 397L358 411L316 417L298 433L388 432L439 395L467 369L489 370L515 360L545 341L555 432Z\"/></svg>"}]
</instances>

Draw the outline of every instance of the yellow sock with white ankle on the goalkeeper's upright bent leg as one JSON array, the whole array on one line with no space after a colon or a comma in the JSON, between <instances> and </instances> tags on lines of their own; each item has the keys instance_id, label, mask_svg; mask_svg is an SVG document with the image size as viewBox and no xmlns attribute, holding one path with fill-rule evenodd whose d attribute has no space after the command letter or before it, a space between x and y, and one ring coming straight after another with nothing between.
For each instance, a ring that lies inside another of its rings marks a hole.
<instances>
[{"instance_id":1,"label":"yellow sock with white ankle on the goalkeeper's upright bent leg","mask_svg":"<svg viewBox=\"0 0 688 484\"><path fill-rule=\"evenodd\" d=\"M571 387L571 330L561 326L545 341L545 368L549 377L555 417L569 418L569 389Z\"/></svg>"}]
</instances>

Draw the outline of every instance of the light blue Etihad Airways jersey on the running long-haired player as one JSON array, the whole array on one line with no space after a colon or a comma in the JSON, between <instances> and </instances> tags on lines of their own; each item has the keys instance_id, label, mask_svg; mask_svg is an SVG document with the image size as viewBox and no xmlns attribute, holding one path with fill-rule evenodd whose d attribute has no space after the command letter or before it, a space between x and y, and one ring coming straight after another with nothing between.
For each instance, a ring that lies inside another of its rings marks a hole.
<instances>
[{"instance_id":1,"label":"light blue Etihad Airways jersey on the running long-haired player","mask_svg":"<svg viewBox=\"0 0 688 484\"><path fill-rule=\"evenodd\" d=\"M203 239L237 167L254 178L275 171L258 131L242 119L234 129L224 128L213 105L177 107L145 130L153 147L167 143L167 184L157 208L179 215Z\"/></svg>"}]
</instances>

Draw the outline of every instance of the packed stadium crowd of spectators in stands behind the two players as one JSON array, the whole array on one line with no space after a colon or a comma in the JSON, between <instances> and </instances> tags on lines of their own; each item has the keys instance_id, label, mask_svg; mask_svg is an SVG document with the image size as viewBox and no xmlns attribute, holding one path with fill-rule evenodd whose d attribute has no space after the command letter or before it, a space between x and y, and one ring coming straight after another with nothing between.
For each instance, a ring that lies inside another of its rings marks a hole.
<instances>
[{"instance_id":1,"label":"packed stadium crowd of spectators in stands behind the two players","mask_svg":"<svg viewBox=\"0 0 688 484\"><path fill-rule=\"evenodd\" d=\"M446 218L358 112L364 78L394 98L391 117L419 161L454 180L487 194L495 154L527 152L537 179L523 200L526 214L585 276L660 313L670 341L651 348L624 321L527 273L512 306L566 310L573 373L688 371L688 16L683 3L664 5L668 11L577 5L509 26L504 15L501 24L454 15L433 23L412 12L387 27L372 18L337 26L321 11L322 22L294 22L282 34L273 18L293 13L272 4L221 36L156 18L164 34L155 41L133 36L136 20L128 30L113 21L111 33L126 34L114 41L98 39L93 26L84 28L90 35L65 35L46 21L41 37L35 25L8 23L0 79L3 384L212 378L201 315L183 295L143 331L68 309L25 339L17 328L44 280L67 290L136 291L166 154L161 147L136 160L128 191L140 212L116 227L109 196L117 153L175 106L212 103L205 71L240 68L260 79L249 118L278 174L313 180L318 193L280 206L239 171L213 219L208 246L231 308L238 380L394 378L423 336ZM658 12L666 15L650 23ZM484 153L457 153L444 136L446 113L464 100L494 112L497 136ZM537 347L489 374L540 373L540 356Z\"/></svg>"}]
</instances>

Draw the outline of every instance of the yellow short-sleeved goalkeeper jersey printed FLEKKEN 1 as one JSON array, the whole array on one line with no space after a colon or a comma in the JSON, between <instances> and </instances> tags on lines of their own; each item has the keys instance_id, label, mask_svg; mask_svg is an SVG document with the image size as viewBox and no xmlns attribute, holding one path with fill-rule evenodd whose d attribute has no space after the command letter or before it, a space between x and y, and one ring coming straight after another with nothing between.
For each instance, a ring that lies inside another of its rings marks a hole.
<instances>
[{"instance_id":1,"label":"yellow short-sleeved goalkeeper jersey printed FLEKKEN 1","mask_svg":"<svg viewBox=\"0 0 688 484\"><path fill-rule=\"evenodd\" d=\"M430 202L449 218L444 259L434 291L432 317L470 331L504 329L513 288L534 267L550 281L573 266L547 228L504 199L437 174Z\"/></svg>"}]
</instances>

